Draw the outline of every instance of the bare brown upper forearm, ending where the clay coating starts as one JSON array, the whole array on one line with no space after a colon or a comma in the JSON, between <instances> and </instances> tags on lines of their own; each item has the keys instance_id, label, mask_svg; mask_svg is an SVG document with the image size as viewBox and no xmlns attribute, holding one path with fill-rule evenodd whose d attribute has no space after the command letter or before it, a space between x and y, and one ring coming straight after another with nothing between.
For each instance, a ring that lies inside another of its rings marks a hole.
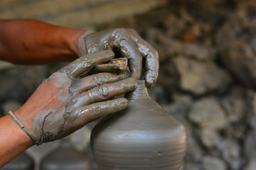
<instances>
[{"instance_id":1,"label":"bare brown upper forearm, ending where the clay coating starts","mask_svg":"<svg viewBox=\"0 0 256 170\"><path fill-rule=\"evenodd\" d=\"M72 61L85 30L33 20L0 20L0 60L16 64Z\"/></svg>"}]
</instances>

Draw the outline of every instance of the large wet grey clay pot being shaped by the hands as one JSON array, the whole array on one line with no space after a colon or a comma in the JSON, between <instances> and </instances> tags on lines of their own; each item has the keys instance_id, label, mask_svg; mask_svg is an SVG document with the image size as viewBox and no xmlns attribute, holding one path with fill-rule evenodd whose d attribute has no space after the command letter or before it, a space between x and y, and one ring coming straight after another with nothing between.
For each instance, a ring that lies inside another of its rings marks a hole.
<instances>
[{"instance_id":1,"label":"large wet grey clay pot being shaped by the hands","mask_svg":"<svg viewBox=\"0 0 256 170\"><path fill-rule=\"evenodd\" d=\"M128 96L129 106L92 130L91 147L99 169L180 169L186 130L149 97L144 81Z\"/></svg>"}]
</instances>

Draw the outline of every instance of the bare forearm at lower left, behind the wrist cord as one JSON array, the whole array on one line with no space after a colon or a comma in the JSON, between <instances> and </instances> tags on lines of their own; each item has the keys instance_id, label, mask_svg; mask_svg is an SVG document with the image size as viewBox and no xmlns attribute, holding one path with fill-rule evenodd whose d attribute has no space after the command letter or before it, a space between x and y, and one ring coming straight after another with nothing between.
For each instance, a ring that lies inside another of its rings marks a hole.
<instances>
[{"instance_id":1,"label":"bare forearm at lower left, behind the wrist cord","mask_svg":"<svg viewBox=\"0 0 256 170\"><path fill-rule=\"evenodd\" d=\"M31 138L21 130L10 115L0 118L0 169L31 145Z\"/></svg>"}]
</instances>

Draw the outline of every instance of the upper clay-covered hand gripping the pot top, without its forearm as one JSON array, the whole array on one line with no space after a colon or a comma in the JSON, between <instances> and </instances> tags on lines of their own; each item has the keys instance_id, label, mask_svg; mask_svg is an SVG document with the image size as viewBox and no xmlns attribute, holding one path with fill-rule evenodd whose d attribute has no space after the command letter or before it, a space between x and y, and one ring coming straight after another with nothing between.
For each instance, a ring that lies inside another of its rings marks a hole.
<instances>
[{"instance_id":1,"label":"upper clay-covered hand gripping the pot top, without its forearm","mask_svg":"<svg viewBox=\"0 0 256 170\"><path fill-rule=\"evenodd\" d=\"M146 86L156 83L159 70L158 53L132 29L117 28L100 32L86 32L79 40L80 55L99 50L118 50L129 60L134 79L142 77L142 57L146 58Z\"/></svg>"}]
</instances>

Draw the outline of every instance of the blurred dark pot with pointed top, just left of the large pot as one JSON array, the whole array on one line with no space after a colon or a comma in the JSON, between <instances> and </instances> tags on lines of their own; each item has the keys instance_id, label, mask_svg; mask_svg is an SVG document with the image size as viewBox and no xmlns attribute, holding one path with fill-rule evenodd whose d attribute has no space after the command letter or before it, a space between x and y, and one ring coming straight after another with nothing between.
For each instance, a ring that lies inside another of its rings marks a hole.
<instances>
[{"instance_id":1,"label":"blurred dark pot with pointed top, just left of the large pot","mask_svg":"<svg viewBox=\"0 0 256 170\"><path fill-rule=\"evenodd\" d=\"M60 147L50 152L40 164L41 170L92 170L89 157L75 150L68 139L61 141Z\"/></svg>"}]
</instances>

